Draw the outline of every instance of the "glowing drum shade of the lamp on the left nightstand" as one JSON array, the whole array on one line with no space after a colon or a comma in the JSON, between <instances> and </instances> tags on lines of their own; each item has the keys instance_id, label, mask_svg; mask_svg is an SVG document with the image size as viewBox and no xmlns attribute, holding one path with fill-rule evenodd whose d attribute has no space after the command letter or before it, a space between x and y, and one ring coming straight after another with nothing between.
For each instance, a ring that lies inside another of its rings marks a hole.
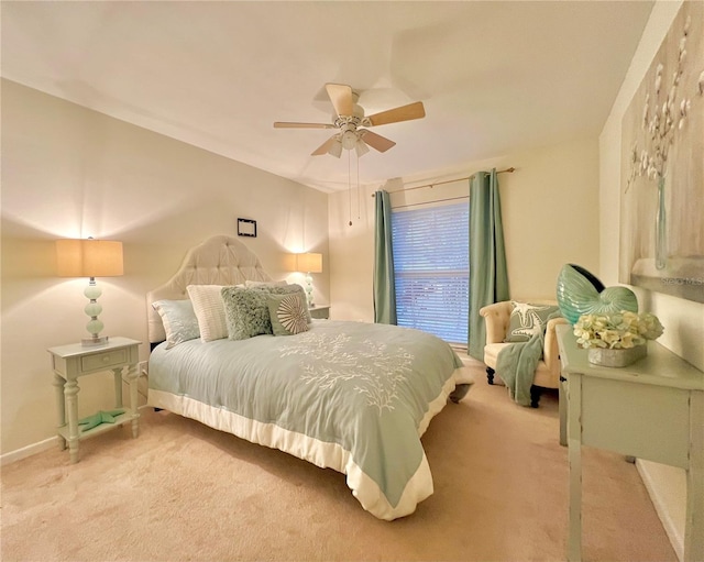
<instances>
[{"instance_id":1,"label":"glowing drum shade of the lamp on the left nightstand","mask_svg":"<svg viewBox=\"0 0 704 562\"><path fill-rule=\"evenodd\" d=\"M122 242L112 240L57 240L59 277L116 277L123 274Z\"/></svg>"}]
</instances>

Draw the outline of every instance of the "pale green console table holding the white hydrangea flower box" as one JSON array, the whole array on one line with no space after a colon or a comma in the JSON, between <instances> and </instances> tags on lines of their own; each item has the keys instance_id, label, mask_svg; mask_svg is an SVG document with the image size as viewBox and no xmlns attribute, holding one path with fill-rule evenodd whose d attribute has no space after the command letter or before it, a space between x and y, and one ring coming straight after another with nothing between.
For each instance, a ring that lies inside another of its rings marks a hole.
<instances>
[{"instance_id":1,"label":"pale green console table holding the white hydrangea flower box","mask_svg":"<svg viewBox=\"0 0 704 562\"><path fill-rule=\"evenodd\" d=\"M622 368L590 363L570 326L558 327L558 344L568 394L568 559L582 558L585 444L684 469L684 561L704 560L704 373L657 342Z\"/></svg>"}]
</instances>

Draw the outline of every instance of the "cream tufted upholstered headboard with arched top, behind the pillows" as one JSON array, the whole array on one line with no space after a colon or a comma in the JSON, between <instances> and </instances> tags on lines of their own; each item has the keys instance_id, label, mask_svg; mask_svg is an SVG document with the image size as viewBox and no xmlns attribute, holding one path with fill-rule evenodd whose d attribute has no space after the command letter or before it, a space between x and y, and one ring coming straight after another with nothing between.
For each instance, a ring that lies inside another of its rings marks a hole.
<instances>
[{"instance_id":1,"label":"cream tufted upholstered headboard with arched top, behind the pillows","mask_svg":"<svg viewBox=\"0 0 704 562\"><path fill-rule=\"evenodd\" d=\"M146 294L150 342L166 339L164 324L152 302L188 298L188 285L238 285L245 280L272 280L256 254L233 236L212 236L193 247L174 276Z\"/></svg>"}]
</instances>

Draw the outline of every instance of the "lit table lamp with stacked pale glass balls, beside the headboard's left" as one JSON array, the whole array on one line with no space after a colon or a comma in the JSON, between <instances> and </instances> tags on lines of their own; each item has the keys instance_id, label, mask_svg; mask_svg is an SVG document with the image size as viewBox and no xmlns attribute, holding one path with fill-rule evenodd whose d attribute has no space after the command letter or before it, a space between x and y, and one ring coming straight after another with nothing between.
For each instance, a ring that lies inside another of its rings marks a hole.
<instances>
[{"instance_id":1,"label":"lit table lamp with stacked pale glass balls, beside the headboard's left","mask_svg":"<svg viewBox=\"0 0 704 562\"><path fill-rule=\"evenodd\" d=\"M89 299L84 309L90 320L86 324L90 338L81 340L84 345L102 345L107 335L100 335L103 324L98 320L102 307L98 298L102 290L96 277L116 277L122 275L122 242L111 240L57 240L56 264L59 277L89 277L84 295Z\"/></svg>"}]
</instances>

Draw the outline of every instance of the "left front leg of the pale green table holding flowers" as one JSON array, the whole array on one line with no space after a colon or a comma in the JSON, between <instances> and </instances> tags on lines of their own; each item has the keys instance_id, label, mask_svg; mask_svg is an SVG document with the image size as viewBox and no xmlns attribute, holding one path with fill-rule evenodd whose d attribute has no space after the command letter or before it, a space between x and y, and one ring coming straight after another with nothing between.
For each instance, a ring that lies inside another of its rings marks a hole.
<instances>
[{"instance_id":1,"label":"left front leg of the pale green table holding flowers","mask_svg":"<svg viewBox=\"0 0 704 562\"><path fill-rule=\"evenodd\" d=\"M568 384L568 456L570 463L570 524L568 560L582 560L582 376L570 374Z\"/></svg>"}]
</instances>

